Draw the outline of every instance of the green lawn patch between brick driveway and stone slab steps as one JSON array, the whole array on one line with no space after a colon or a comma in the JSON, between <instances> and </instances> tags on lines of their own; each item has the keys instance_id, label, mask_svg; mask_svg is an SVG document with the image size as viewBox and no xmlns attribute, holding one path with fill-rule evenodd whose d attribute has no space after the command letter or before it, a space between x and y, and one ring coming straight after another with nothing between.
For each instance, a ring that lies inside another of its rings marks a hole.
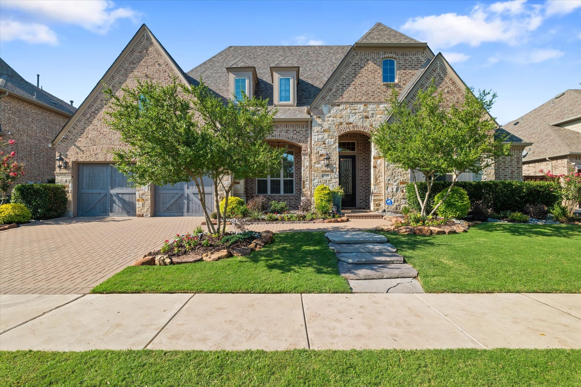
<instances>
[{"instance_id":1,"label":"green lawn patch between brick driveway and stone slab steps","mask_svg":"<svg viewBox=\"0 0 581 387\"><path fill-rule=\"evenodd\" d=\"M171 266L129 266L94 293L349 293L321 232L275 234L248 256Z\"/></svg>"}]
</instances>

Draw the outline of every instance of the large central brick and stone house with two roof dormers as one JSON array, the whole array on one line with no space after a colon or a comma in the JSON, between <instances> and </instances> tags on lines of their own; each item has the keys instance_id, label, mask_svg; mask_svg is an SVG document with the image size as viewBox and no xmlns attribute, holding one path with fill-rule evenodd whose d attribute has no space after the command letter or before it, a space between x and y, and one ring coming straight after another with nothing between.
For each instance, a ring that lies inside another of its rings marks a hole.
<instances>
[{"instance_id":1,"label":"large central brick and stone house with two roof dormers","mask_svg":"<svg viewBox=\"0 0 581 387\"><path fill-rule=\"evenodd\" d=\"M381 23L350 46L229 46L188 73L144 25L53 140L68 162L56 176L70 185L71 214L202 214L192 183L135 189L112 163L110 151L123 143L103 122L103 84L119 91L122 85L135 86L135 78L170 82L171 77L191 84L203 79L224 100L243 91L278 107L269 142L286 147L284 168L236 182L234 194L266 195L288 202L291 209L301 198L312 198L320 184L342 185L343 207L378 210L389 198L394 202L390 209L401 208L410 172L387 165L370 141L371 129L386 118L390 89L410 102L433 78L448 103L460 102L465 90L441 53L434 55L426 43ZM498 160L503 167L462 179L522 179L526 145L515 143L512 156ZM216 194L211 185L206 189L207 199ZM213 201L206 202L212 210Z\"/></svg>"}]
</instances>

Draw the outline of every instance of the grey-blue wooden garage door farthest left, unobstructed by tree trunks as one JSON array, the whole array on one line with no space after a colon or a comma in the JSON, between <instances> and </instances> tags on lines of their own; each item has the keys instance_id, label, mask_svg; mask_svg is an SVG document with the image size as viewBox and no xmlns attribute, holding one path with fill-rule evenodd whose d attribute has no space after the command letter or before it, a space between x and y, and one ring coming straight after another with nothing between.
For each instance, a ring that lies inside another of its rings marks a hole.
<instances>
[{"instance_id":1,"label":"grey-blue wooden garage door farthest left, unobstructed by tree trunks","mask_svg":"<svg viewBox=\"0 0 581 387\"><path fill-rule=\"evenodd\" d=\"M80 164L77 215L135 216L135 188L111 164Z\"/></svg>"}]
</instances>

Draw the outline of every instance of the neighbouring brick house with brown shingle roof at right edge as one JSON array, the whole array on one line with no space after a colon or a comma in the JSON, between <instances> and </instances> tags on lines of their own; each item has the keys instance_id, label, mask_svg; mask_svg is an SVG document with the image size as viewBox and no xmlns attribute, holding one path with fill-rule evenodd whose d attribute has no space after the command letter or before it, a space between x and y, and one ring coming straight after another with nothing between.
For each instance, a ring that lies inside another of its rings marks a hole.
<instances>
[{"instance_id":1,"label":"neighbouring brick house with brown shingle roof at right edge","mask_svg":"<svg viewBox=\"0 0 581 387\"><path fill-rule=\"evenodd\" d=\"M571 169L581 172L580 89L558 93L503 128L533 142L522 159L525 180L541 180L547 171L555 175Z\"/></svg>"}]
</instances>

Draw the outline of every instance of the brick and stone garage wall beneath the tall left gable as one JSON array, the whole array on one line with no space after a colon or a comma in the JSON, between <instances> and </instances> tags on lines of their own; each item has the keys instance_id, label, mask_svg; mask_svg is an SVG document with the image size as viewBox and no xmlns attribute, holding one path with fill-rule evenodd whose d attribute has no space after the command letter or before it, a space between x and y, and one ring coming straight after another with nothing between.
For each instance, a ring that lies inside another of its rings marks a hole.
<instances>
[{"instance_id":1,"label":"brick and stone garage wall beneath the tall left gable","mask_svg":"<svg viewBox=\"0 0 581 387\"><path fill-rule=\"evenodd\" d=\"M174 74L166 57L152 42L147 32L138 39L123 62L106 79L106 85L120 94L121 86L137 86L135 78L170 83ZM61 140L56 151L62 153L68 165L66 170L56 169L56 182L69 185L69 205L67 212L73 214L74 172L78 162L111 162L112 150L122 149L119 133L112 131L104 122L108 101L102 92L88 102L88 106ZM51 139L52 140L52 139ZM53 164L54 165L54 164ZM153 214L151 189L149 186L137 189L137 216Z\"/></svg>"}]
</instances>

